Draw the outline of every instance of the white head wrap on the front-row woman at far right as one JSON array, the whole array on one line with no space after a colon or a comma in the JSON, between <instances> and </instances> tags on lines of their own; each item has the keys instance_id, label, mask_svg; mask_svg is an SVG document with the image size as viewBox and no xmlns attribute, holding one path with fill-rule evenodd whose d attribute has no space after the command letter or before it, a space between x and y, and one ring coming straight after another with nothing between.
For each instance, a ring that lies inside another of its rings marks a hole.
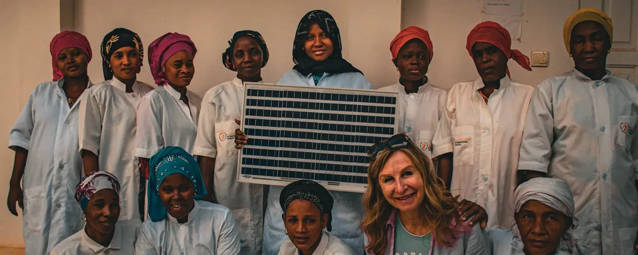
<instances>
[{"instance_id":1,"label":"white head wrap on the front-row woman at far right","mask_svg":"<svg viewBox=\"0 0 638 255\"><path fill-rule=\"evenodd\" d=\"M548 207L554 208L567 217L572 218L572 226L561 240L558 250L569 249L572 254L583 254L581 247L576 244L572 236L572 230L578 227L578 219L574 217L574 196L569 189L567 182L561 179L538 177L519 185L514 192L514 211L519 212L521 207L530 200L544 203ZM517 238L521 238L518 226L514 224L512 232Z\"/></svg>"}]
</instances>

